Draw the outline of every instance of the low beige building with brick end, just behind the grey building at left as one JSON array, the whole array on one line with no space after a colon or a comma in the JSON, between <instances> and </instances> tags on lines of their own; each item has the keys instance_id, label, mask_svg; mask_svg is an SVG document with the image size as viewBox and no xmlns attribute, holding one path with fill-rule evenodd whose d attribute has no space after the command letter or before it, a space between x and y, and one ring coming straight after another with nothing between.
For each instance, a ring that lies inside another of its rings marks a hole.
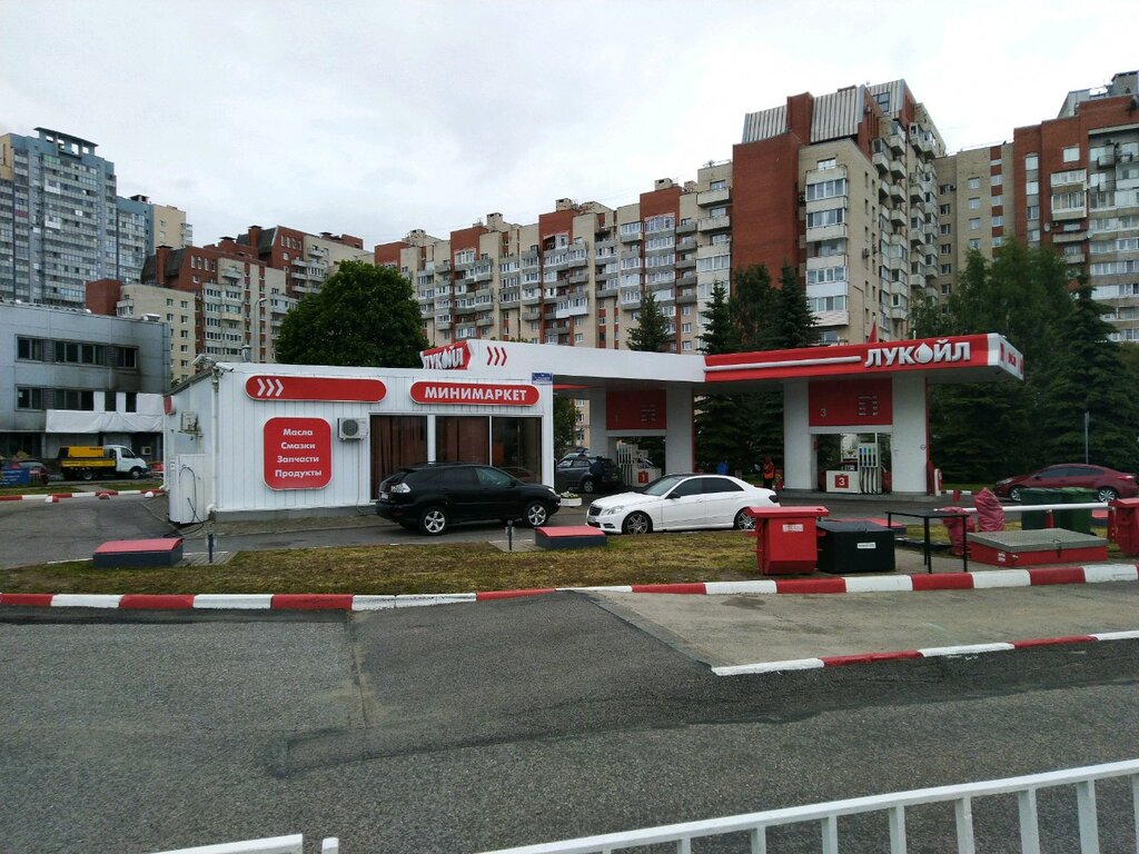
<instances>
[{"instance_id":1,"label":"low beige building with brick end, just behind the grey building at left","mask_svg":"<svg viewBox=\"0 0 1139 854\"><path fill-rule=\"evenodd\" d=\"M95 314L148 320L170 328L170 380L192 377L197 355L195 294L155 285L100 279L87 284L87 309Z\"/></svg>"}]
</instances>

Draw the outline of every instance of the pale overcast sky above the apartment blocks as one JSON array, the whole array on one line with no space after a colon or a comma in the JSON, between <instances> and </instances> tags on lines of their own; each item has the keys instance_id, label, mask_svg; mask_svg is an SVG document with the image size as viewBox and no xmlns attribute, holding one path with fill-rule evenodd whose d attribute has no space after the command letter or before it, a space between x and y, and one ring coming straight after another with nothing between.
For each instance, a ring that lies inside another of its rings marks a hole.
<instances>
[{"instance_id":1,"label":"pale overcast sky above the apartment blocks","mask_svg":"<svg viewBox=\"0 0 1139 854\"><path fill-rule=\"evenodd\" d=\"M1133 20L1089 9L0 0L0 134L96 142L120 195L187 211L198 245L281 224L370 248L636 202L804 91L903 77L950 151L1010 140L1139 65Z\"/></svg>"}]
</instances>

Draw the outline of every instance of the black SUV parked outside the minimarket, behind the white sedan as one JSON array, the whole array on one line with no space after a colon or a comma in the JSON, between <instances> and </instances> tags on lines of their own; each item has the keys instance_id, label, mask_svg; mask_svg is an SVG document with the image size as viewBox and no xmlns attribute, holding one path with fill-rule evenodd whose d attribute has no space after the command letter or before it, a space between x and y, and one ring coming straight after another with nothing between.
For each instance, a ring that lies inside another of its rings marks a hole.
<instances>
[{"instance_id":1,"label":"black SUV parked outside the minimarket, behind the white sedan","mask_svg":"<svg viewBox=\"0 0 1139 854\"><path fill-rule=\"evenodd\" d=\"M523 483L493 466L436 462L401 468L385 479L376 512L434 536L458 522L521 519L538 527L559 503L549 486Z\"/></svg>"}]
</instances>

